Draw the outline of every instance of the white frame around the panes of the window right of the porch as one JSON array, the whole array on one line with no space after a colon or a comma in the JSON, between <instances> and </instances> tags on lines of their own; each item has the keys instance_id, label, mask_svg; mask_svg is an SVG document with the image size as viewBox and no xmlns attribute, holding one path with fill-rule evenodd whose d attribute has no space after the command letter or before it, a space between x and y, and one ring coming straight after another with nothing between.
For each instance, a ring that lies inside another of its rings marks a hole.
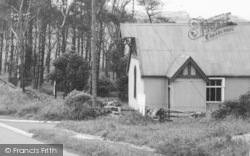
<instances>
[{"instance_id":1,"label":"white frame around the panes of the window right of the porch","mask_svg":"<svg viewBox=\"0 0 250 156\"><path fill-rule=\"evenodd\" d=\"M207 101L207 103L223 103L225 101L225 78L224 77L210 77L209 80L221 80L221 86L207 86L206 85L206 97L208 88L221 88L221 101Z\"/></svg>"}]
</instances>

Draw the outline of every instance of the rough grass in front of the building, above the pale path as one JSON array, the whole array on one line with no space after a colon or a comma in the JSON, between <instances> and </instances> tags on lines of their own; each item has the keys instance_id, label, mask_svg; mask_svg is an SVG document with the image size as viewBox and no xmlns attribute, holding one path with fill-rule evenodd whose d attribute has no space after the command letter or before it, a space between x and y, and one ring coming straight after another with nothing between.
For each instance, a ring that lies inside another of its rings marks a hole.
<instances>
[{"instance_id":1,"label":"rough grass in front of the building, above the pale path","mask_svg":"<svg viewBox=\"0 0 250 156\"><path fill-rule=\"evenodd\" d=\"M133 122L133 118L136 121ZM58 125L79 133L106 137L110 140L146 145L164 155L241 155L247 151L231 137L248 133L246 120L227 118L180 119L171 123L153 123L128 114L122 118L105 117L93 121L66 121Z\"/></svg>"}]
</instances>

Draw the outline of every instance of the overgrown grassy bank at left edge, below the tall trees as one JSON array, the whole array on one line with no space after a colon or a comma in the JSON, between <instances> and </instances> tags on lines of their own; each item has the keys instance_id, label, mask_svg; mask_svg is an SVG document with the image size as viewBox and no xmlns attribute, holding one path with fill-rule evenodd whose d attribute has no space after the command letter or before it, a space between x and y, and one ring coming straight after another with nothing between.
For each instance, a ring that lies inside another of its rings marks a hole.
<instances>
[{"instance_id":1,"label":"overgrown grassy bank at left edge, below the tall trees","mask_svg":"<svg viewBox=\"0 0 250 156\"><path fill-rule=\"evenodd\" d=\"M44 93L28 89L25 94L20 89L0 87L0 115L11 115L39 120L63 119L63 101L55 100Z\"/></svg>"}]
</instances>

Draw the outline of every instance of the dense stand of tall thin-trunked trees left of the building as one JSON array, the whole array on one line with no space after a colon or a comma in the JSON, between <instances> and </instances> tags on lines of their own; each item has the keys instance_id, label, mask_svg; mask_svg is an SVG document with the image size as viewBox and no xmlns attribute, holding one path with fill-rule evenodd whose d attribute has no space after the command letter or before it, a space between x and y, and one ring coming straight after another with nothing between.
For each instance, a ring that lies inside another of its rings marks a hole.
<instances>
[{"instance_id":1,"label":"dense stand of tall thin-trunked trees left of the building","mask_svg":"<svg viewBox=\"0 0 250 156\"><path fill-rule=\"evenodd\" d=\"M126 79L120 23L138 21L134 3L134 0L95 3L97 79L100 71L107 78L113 72L117 80ZM161 3L158 0L138 3L145 7L148 21L157 22L158 17L154 16ZM128 11L131 6L132 11ZM91 17L91 0L0 0L0 73L7 73L8 80L25 91L27 85L39 89L52 72L52 60L67 56L69 51L81 56L80 62L91 65ZM58 63L54 65L60 66Z\"/></svg>"}]
</instances>

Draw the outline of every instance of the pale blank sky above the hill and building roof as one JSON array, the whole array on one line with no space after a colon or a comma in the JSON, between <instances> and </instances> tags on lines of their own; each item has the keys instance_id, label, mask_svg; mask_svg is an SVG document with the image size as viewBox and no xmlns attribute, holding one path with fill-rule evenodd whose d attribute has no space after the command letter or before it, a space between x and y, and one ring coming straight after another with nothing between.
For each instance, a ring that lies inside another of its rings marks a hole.
<instances>
[{"instance_id":1,"label":"pale blank sky above the hill and building roof","mask_svg":"<svg viewBox=\"0 0 250 156\"><path fill-rule=\"evenodd\" d=\"M191 18L209 18L231 12L250 21L250 0L161 0L163 11L187 11Z\"/></svg>"}]
</instances>

